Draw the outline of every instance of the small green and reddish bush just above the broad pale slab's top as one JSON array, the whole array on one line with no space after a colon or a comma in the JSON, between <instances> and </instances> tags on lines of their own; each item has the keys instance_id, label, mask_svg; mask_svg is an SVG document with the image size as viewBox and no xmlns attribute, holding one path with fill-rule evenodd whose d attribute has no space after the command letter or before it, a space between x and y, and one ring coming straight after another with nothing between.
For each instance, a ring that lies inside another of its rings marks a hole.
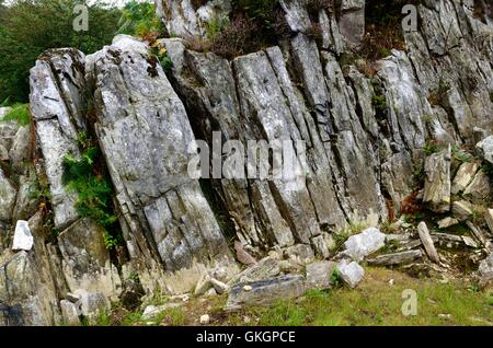
<instances>
[{"instance_id":1,"label":"small green and reddish bush just above the broad pale slab's top","mask_svg":"<svg viewBox=\"0 0 493 348\"><path fill-rule=\"evenodd\" d=\"M158 36L164 35L164 25L156 15L156 8L150 2L137 2L131 0L122 10L118 21L117 34L136 35L146 37L151 33Z\"/></svg>"}]
</instances>

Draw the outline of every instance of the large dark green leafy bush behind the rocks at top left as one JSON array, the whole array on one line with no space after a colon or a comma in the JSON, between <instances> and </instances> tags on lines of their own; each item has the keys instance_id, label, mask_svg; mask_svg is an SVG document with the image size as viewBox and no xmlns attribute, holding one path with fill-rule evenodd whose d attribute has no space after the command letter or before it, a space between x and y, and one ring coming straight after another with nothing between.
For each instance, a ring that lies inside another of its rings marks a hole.
<instances>
[{"instance_id":1,"label":"large dark green leafy bush behind the rocks at top left","mask_svg":"<svg viewBox=\"0 0 493 348\"><path fill-rule=\"evenodd\" d=\"M74 47L91 54L111 43L121 11L89 5L89 30L76 32L73 8L82 0L14 0L0 11L0 100L26 102L28 73L49 48ZM95 24L96 23L96 24Z\"/></svg>"}]
</instances>

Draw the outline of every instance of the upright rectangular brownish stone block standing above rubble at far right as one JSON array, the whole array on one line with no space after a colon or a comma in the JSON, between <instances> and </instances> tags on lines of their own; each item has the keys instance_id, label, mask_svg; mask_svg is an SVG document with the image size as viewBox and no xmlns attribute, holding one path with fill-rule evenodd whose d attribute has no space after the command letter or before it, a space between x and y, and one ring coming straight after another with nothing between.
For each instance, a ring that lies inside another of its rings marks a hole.
<instances>
[{"instance_id":1,"label":"upright rectangular brownish stone block standing above rubble at far right","mask_svg":"<svg viewBox=\"0 0 493 348\"><path fill-rule=\"evenodd\" d=\"M451 150L434 153L425 160L425 185L423 204L434 212L450 210L450 160Z\"/></svg>"}]
</instances>

